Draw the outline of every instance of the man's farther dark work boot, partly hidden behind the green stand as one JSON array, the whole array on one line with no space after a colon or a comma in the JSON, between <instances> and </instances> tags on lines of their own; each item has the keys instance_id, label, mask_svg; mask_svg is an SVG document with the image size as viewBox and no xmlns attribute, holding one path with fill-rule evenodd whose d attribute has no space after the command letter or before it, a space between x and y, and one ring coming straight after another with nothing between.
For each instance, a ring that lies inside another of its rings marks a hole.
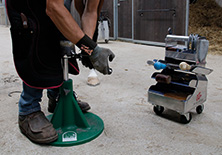
<instances>
[{"instance_id":1,"label":"man's farther dark work boot, partly hidden behind the green stand","mask_svg":"<svg viewBox=\"0 0 222 155\"><path fill-rule=\"evenodd\" d=\"M75 94L75 92L73 92L73 96L74 98L76 99L77 96ZM49 101L48 101L48 112L51 112L51 113L54 113L55 111L55 108L56 108L56 104L58 102L58 98L52 98L50 95L48 95L48 98L49 98ZM89 109L90 109L90 106L87 102L83 102L81 100L77 100L77 103L80 107L80 109L82 110L83 113L86 113Z\"/></svg>"}]
</instances>

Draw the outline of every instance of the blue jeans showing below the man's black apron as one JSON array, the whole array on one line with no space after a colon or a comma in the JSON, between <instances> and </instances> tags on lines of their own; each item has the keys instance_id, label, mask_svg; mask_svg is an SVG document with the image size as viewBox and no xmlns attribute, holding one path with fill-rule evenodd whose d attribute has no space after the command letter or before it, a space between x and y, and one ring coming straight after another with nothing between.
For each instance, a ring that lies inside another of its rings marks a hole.
<instances>
[{"instance_id":1,"label":"blue jeans showing below the man's black apron","mask_svg":"<svg viewBox=\"0 0 222 155\"><path fill-rule=\"evenodd\" d=\"M19 115L28 115L41 110L43 89L36 89L23 83L23 91L19 99ZM59 88L47 89L47 96L56 99L59 95Z\"/></svg>"}]
</instances>

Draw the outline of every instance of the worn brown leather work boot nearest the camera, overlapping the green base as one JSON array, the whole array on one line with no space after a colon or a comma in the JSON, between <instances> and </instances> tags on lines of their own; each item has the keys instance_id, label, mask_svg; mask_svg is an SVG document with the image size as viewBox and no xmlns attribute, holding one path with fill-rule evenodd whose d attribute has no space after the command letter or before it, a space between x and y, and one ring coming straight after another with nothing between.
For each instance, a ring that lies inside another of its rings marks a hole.
<instances>
[{"instance_id":1,"label":"worn brown leather work boot nearest the camera, overlapping the green base","mask_svg":"<svg viewBox=\"0 0 222 155\"><path fill-rule=\"evenodd\" d=\"M58 139L53 125L41 111L26 116L19 115L19 128L34 143L48 144Z\"/></svg>"}]
</instances>

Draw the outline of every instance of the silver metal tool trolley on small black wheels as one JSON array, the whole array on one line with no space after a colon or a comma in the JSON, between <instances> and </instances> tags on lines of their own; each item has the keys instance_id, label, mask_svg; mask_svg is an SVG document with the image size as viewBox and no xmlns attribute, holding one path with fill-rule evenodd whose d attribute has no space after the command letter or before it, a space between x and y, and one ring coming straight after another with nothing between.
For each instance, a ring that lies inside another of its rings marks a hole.
<instances>
[{"instance_id":1,"label":"silver metal tool trolley on small black wheels","mask_svg":"<svg viewBox=\"0 0 222 155\"><path fill-rule=\"evenodd\" d=\"M202 113L207 99L206 75L212 72L205 68L209 41L192 34L167 35L165 41L165 60L147 62L162 69L151 76L157 83L148 89L148 102L157 115L168 108L178 112L180 122L186 124L192 119L190 111L196 108Z\"/></svg>"}]
</instances>

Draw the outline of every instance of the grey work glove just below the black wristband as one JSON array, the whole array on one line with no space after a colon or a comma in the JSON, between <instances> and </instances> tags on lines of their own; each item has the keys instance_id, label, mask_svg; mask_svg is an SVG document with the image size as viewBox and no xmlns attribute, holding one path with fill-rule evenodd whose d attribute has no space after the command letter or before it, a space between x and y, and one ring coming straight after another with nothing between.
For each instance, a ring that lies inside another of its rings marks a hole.
<instances>
[{"instance_id":1,"label":"grey work glove just below the black wristband","mask_svg":"<svg viewBox=\"0 0 222 155\"><path fill-rule=\"evenodd\" d=\"M112 73L112 69L109 68L108 58L109 61L112 61L114 57L115 54L110 49L96 46L89 59L96 70L106 75Z\"/></svg>"}]
</instances>

